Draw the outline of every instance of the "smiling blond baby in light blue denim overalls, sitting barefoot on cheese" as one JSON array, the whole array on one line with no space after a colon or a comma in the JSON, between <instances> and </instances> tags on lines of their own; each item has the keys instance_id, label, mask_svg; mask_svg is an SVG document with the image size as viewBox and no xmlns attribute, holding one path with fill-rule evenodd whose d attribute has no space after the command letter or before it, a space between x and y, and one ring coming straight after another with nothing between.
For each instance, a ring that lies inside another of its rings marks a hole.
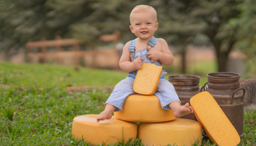
<instances>
[{"instance_id":1,"label":"smiling blond baby in light blue denim overalls, sitting barefoot on cheese","mask_svg":"<svg viewBox=\"0 0 256 146\"><path fill-rule=\"evenodd\" d=\"M122 110L125 98L133 91L133 83L142 63L154 63L157 66L170 66L173 63L173 55L167 42L153 35L158 28L157 14L153 7L138 5L130 14L130 29L138 38L125 44L119 66L128 76L121 80L113 89L113 92L105 102L105 110L97 117L97 122L110 119L114 111ZM193 113L193 108L186 103L181 106L179 97L173 85L165 79L167 72L162 70L156 95L163 109L172 109L175 117Z\"/></svg>"}]
</instances>

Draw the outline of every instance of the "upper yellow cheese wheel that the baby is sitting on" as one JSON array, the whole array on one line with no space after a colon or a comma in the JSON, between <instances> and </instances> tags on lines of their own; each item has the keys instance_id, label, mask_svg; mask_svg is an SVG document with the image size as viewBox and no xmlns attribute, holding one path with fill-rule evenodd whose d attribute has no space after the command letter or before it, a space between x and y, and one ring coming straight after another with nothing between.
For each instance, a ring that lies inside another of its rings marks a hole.
<instances>
[{"instance_id":1,"label":"upper yellow cheese wheel that the baby is sitting on","mask_svg":"<svg viewBox=\"0 0 256 146\"><path fill-rule=\"evenodd\" d=\"M174 120L172 110L162 109L155 95L131 94L125 99L123 110L114 112L119 120L131 122L165 122Z\"/></svg>"}]
</instances>

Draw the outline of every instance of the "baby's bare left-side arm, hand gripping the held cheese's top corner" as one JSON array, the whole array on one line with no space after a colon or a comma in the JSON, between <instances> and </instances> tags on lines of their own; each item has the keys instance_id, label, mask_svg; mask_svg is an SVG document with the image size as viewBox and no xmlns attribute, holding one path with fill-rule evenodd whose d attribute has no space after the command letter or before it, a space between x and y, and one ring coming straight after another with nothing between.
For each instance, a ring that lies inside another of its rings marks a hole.
<instances>
[{"instance_id":1,"label":"baby's bare left-side arm, hand gripping the held cheese's top corner","mask_svg":"<svg viewBox=\"0 0 256 146\"><path fill-rule=\"evenodd\" d=\"M131 61L130 52L129 52L129 42L127 42L123 49L123 54L120 58L119 66L125 72L132 72L142 67L141 59L142 58L137 58L133 62Z\"/></svg>"}]
</instances>

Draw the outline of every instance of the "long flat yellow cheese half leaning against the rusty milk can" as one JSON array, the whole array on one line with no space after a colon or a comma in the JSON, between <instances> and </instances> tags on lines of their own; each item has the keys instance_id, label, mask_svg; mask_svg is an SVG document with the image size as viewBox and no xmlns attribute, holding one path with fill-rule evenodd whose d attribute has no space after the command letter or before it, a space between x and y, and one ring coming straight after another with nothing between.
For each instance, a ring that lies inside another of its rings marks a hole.
<instances>
[{"instance_id":1,"label":"long flat yellow cheese half leaning against the rusty milk can","mask_svg":"<svg viewBox=\"0 0 256 146\"><path fill-rule=\"evenodd\" d=\"M216 142L219 146L236 146L240 143L237 130L209 92L193 96L190 105L212 143Z\"/></svg>"}]
</instances>

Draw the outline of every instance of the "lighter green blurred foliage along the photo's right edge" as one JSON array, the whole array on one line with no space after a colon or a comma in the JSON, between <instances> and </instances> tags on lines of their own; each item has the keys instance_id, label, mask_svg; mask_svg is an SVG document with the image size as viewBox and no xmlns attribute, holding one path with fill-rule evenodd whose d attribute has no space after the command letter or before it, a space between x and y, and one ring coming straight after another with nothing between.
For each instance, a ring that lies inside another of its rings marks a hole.
<instances>
[{"instance_id":1,"label":"lighter green blurred foliage along the photo's right edge","mask_svg":"<svg viewBox=\"0 0 256 146\"><path fill-rule=\"evenodd\" d=\"M256 1L244 0L238 7L242 13L229 25L238 28L236 46L246 55L245 78L256 77Z\"/></svg>"}]
</instances>

